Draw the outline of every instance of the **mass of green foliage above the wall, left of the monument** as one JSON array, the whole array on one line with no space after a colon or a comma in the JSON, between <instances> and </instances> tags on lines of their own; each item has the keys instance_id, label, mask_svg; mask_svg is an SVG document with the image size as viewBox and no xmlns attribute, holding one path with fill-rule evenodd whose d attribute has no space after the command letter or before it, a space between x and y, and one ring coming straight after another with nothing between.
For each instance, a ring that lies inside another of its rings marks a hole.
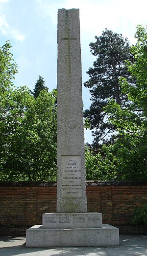
<instances>
[{"instance_id":1,"label":"mass of green foliage above the wall, left of the monument","mask_svg":"<svg viewBox=\"0 0 147 256\"><path fill-rule=\"evenodd\" d=\"M1 180L56 179L55 101L55 90L42 90L37 99L25 87L13 91L12 107L4 117Z\"/></svg>"}]
</instances>

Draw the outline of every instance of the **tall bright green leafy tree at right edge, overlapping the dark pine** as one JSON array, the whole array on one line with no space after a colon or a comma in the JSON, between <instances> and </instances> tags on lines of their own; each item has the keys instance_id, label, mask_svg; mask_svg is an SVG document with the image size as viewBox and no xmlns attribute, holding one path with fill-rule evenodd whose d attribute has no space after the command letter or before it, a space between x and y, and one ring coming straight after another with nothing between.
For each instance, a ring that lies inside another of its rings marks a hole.
<instances>
[{"instance_id":1,"label":"tall bright green leafy tree at right edge, overlapping the dark pine","mask_svg":"<svg viewBox=\"0 0 147 256\"><path fill-rule=\"evenodd\" d=\"M130 105L121 108L110 100L105 108L109 121L121 135L108 148L117 159L118 179L147 181L147 31L137 27L137 44L131 47L135 62L126 61L126 67L137 83L130 84L121 78L123 93L128 95Z\"/></svg>"}]
</instances>

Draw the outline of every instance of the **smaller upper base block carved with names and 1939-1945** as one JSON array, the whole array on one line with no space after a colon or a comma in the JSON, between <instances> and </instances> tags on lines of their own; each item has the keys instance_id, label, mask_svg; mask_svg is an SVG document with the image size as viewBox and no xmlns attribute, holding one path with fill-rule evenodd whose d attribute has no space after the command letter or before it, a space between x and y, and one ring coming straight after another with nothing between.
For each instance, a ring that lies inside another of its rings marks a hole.
<instances>
[{"instance_id":1,"label":"smaller upper base block carved with names and 1939-1945","mask_svg":"<svg viewBox=\"0 0 147 256\"><path fill-rule=\"evenodd\" d=\"M43 228L96 228L102 227L101 213L46 213Z\"/></svg>"}]
</instances>

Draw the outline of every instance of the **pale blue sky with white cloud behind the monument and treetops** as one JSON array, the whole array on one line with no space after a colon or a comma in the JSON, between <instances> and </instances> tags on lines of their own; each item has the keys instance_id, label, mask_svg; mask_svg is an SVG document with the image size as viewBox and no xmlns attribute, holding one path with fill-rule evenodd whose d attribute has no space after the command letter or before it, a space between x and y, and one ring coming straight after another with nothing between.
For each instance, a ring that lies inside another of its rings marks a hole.
<instances>
[{"instance_id":1,"label":"pale blue sky with white cloud behind the monument and treetops","mask_svg":"<svg viewBox=\"0 0 147 256\"><path fill-rule=\"evenodd\" d=\"M147 0L0 0L0 46L7 39L12 44L17 86L32 90L41 75L49 91L56 87L58 8L80 9L83 83L95 61L89 48L95 36L108 28L135 44L136 26L147 26ZM89 98L83 86L84 109L90 106ZM85 141L92 142L90 131L85 131Z\"/></svg>"}]
</instances>

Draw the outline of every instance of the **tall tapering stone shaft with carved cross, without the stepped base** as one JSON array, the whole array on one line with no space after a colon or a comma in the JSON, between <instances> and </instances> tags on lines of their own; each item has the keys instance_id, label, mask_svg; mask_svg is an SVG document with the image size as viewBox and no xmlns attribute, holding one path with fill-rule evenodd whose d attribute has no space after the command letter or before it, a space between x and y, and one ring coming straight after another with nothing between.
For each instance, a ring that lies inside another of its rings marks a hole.
<instances>
[{"instance_id":1,"label":"tall tapering stone shaft with carved cross, without the stepped base","mask_svg":"<svg viewBox=\"0 0 147 256\"><path fill-rule=\"evenodd\" d=\"M57 213L87 212L79 9L58 10Z\"/></svg>"}]
</instances>

